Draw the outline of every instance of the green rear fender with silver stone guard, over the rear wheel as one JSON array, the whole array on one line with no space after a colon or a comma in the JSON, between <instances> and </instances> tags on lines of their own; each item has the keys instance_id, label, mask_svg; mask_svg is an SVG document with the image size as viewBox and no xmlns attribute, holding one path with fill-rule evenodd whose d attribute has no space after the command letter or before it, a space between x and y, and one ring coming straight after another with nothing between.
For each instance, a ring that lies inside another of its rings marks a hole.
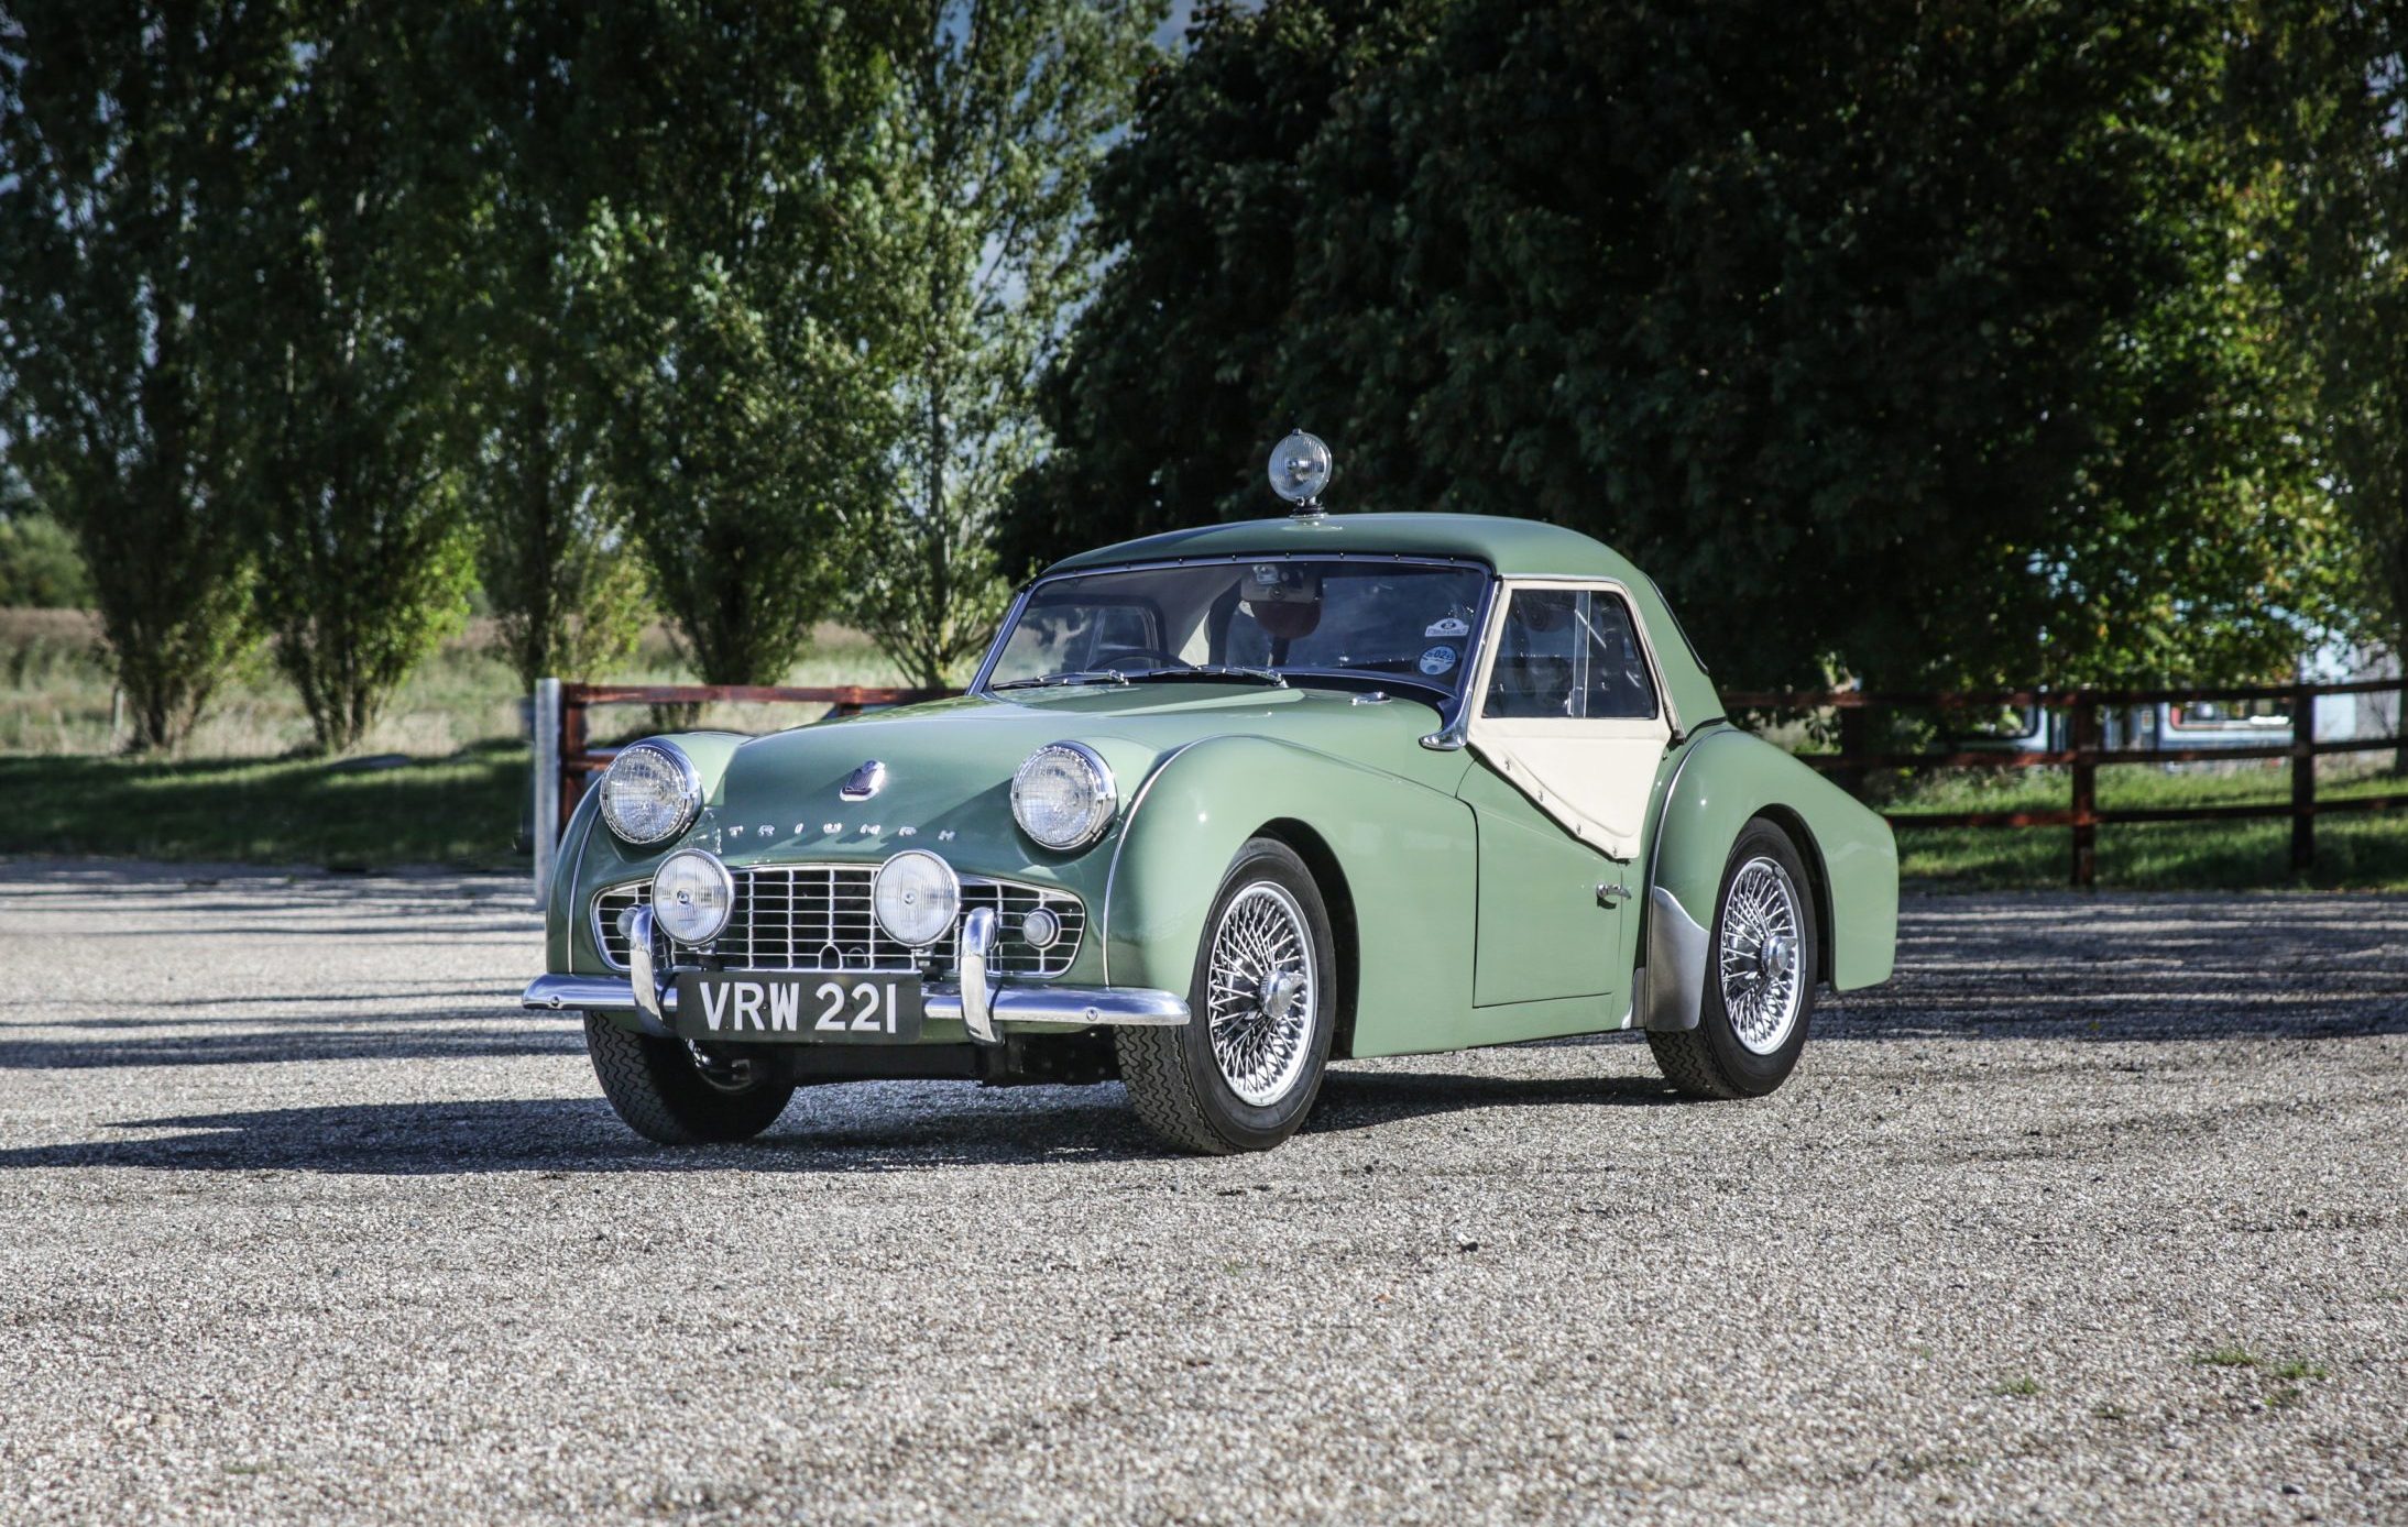
<instances>
[{"instance_id":1,"label":"green rear fender with silver stone guard, over the rear wheel","mask_svg":"<svg viewBox=\"0 0 2408 1527\"><path fill-rule=\"evenodd\" d=\"M1722 872L1755 816L1772 816L1801 838L1799 855L1820 886L1830 983L1854 990L1890 978L1898 956L1890 824L1770 742L1710 727L1676 761L1657 819L1642 942L1647 1028L1695 1028Z\"/></svg>"}]
</instances>

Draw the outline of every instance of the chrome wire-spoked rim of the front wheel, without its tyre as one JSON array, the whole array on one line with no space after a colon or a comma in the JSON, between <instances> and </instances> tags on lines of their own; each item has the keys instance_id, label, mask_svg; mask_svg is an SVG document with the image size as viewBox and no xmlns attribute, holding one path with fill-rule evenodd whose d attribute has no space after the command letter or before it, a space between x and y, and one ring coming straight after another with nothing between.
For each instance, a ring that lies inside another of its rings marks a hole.
<instances>
[{"instance_id":1,"label":"chrome wire-spoked rim of the front wheel, without its tyre","mask_svg":"<svg viewBox=\"0 0 2408 1527\"><path fill-rule=\"evenodd\" d=\"M1312 1014L1312 935L1283 886L1257 882L1230 898L1211 937L1206 1024L1221 1079L1264 1108L1305 1074Z\"/></svg>"}]
</instances>

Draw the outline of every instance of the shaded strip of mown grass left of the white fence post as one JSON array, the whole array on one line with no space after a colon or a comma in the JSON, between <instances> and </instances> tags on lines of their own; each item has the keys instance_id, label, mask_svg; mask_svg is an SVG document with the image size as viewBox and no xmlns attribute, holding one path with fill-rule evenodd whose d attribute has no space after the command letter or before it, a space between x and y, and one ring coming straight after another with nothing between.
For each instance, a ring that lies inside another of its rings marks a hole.
<instances>
[{"instance_id":1,"label":"shaded strip of mown grass left of the white fence post","mask_svg":"<svg viewBox=\"0 0 2408 1527\"><path fill-rule=\"evenodd\" d=\"M527 749L349 771L308 759L0 756L0 853L513 867Z\"/></svg>"}]
</instances>

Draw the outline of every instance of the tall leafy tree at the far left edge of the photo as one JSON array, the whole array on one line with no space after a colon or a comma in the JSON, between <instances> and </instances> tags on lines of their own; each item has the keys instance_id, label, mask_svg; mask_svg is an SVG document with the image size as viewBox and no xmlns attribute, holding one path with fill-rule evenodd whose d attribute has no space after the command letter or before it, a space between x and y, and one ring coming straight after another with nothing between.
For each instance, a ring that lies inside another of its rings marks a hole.
<instances>
[{"instance_id":1,"label":"tall leafy tree at the far left edge of the photo","mask_svg":"<svg viewBox=\"0 0 2408 1527\"><path fill-rule=\"evenodd\" d=\"M0 10L0 429L84 552L135 747L253 638L222 234L291 48L275 0Z\"/></svg>"}]
</instances>

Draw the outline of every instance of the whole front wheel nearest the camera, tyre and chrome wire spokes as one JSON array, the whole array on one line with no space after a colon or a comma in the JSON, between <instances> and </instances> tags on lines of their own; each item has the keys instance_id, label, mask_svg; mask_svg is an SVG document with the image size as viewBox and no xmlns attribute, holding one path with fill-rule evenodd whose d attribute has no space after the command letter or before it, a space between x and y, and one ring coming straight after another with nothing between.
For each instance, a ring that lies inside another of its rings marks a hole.
<instances>
[{"instance_id":1,"label":"whole front wheel nearest the camera, tyre and chrome wire spokes","mask_svg":"<svg viewBox=\"0 0 2408 1527\"><path fill-rule=\"evenodd\" d=\"M1336 944L1312 872L1255 838L1228 867L1187 985L1187 1024L1115 1028L1129 1106L1209 1156L1267 1151L1312 1113L1336 1019Z\"/></svg>"}]
</instances>

